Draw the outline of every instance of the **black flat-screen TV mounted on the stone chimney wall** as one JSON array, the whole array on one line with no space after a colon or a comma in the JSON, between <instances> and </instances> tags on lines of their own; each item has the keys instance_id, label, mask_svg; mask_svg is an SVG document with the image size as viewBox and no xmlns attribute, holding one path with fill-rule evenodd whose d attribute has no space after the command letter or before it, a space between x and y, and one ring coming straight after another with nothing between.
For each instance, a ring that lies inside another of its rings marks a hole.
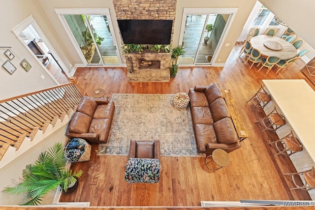
<instances>
[{"instance_id":1,"label":"black flat-screen TV mounted on the stone chimney wall","mask_svg":"<svg viewBox=\"0 0 315 210\"><path fill-rule=\"evenodd\" d=\"M125 44L170 44L172 20L117 20Z\"/></svg>"}]
</instances>

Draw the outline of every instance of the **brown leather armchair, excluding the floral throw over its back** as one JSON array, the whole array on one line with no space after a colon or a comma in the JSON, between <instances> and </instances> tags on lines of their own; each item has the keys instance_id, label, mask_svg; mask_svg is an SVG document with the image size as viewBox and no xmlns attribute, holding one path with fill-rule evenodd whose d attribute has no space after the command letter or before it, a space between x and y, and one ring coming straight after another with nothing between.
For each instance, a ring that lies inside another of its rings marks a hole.
<instances>
[{"instance_id":1,"label":"brown leather armchair, excluding the floral throw over its back","mask_svg":"<svg viewBox=\"0 0 315 210\"><path fill-rule=\"evenodd\" d=\"M129 157L159 159L159 141L130 141Z\"/></svg>"}]
</instances>

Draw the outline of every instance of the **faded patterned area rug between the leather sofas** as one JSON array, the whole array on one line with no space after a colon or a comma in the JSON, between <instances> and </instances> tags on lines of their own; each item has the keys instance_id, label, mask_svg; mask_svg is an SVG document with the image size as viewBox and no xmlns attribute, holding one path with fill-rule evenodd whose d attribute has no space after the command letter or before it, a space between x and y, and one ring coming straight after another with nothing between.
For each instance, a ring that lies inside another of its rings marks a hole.
<instances>
[{"instance_id":1,"label":"faded patterned area rug between the leather sofas","mask_svg":"<svg viewBox=\"0 0 315 210\"><path fill-rule=\"evenodd\" d=\"M130 140L160 141L162 156L198 154L189 107L173 106L175 94L113 94L116 110L106 144L98 155L128 155Z\"/></svg>"}]
</instances>

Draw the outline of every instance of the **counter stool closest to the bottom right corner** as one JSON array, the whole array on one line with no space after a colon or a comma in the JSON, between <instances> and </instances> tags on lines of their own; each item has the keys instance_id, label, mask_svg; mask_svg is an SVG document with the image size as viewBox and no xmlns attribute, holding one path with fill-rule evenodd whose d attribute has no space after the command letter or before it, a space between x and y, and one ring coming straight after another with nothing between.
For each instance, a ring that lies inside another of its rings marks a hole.
<instances>
[{"instance_id":1,"label":"counter stool closest to the bottom right corner","mask_svg":"<svg viewBox=\"0 0 315 210\"><path fill-rule=\"evenodd\" d=\"M291 179L295 185L293 188L290 188L290 190L301 189L309 191L311 189L315 189L315 166L309 170L284 175L291 176ZM298 178L298 180L301 182L297 183L295 180L296 178Z\"/></svg>"}]
</instances>

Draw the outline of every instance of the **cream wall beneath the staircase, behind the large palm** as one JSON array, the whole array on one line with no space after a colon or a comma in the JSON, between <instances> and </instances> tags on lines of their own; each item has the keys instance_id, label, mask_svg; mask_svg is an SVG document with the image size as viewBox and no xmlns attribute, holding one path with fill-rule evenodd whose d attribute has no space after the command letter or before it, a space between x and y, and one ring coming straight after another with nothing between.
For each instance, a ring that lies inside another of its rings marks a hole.
<instances>
[{"instance_id":1,"label":"cream wall beneath the staircase, behind the large palm","mask_svg":"<svg viewBox=\"0 0 315 210\"><path fill-rule=\"evenodd\" d=\"M7 195L2 192L4 187L15 186L12 180L19 181L22 178L22 170L25 169L27 164L33 164L37 159L41 151L47 150L53 146L56 142L60 142L63 145L68 141L68 138L64 136L64 132L67 124L63 125L56 132L43 139L37 145L32 147L29 151L20 155L18 158L13 160L10 164L4 166L0 170L0 205L18 205L23 202L24 197L16 197L12 195ZM52 204L55 192L49 193L43 198L42 205Z\"/></svg>"}]
</instances>

